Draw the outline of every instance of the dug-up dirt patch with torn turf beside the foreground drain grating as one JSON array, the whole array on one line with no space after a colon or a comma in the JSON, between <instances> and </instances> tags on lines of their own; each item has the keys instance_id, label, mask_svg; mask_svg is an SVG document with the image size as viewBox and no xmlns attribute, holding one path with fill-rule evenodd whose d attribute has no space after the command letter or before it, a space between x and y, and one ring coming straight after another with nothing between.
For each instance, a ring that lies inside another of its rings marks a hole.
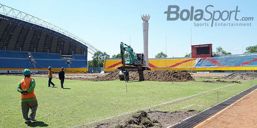
<instances>
[{"instance_id":1,"label":"dug-up dirt patch with torn turf beside the foreground drain grating","mask_svg":"<svg viewBox=\"0 0 257 128\"><path fill-rule=\"evenodd\" d=\"M190 117L197 112L195 110L161 112L161 111L143 111L133 113L127 117L116 121L99 123L95 128L161 128L175 125L181 120Z\"/></svg>"}]
</instances>

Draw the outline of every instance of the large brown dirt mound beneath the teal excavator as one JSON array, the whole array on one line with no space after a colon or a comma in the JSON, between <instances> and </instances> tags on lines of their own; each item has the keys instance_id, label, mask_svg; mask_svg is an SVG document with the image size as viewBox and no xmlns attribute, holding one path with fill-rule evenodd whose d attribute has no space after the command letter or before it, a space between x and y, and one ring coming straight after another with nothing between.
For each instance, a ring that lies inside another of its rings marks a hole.
<instances>
[{"instance_id":1,"label":"large brown dirt mound beneath the teal excavator","mask_svg":"<svg viewBox=\"0 0 257 128\"><path fill-rule=\"evenodd\" d=\"M119 71L115 70L103 77L97 77L92 79L93 81L103 80L119 80ZM135 81L166 81L166 82L183 82L194 80L187 72L182 71L168 71L168 70L144 70L138 72L129 72L129 80Z\"/></svg>"}]
</instances>

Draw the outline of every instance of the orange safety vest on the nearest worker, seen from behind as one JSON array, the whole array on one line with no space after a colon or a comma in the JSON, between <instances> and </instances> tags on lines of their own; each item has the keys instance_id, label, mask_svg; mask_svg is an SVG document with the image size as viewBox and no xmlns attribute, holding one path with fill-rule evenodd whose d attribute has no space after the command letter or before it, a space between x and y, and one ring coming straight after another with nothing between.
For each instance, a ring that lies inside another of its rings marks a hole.
<instances>
[{"instance_id":1,"label":"orange safety vest on the nearest worker, seen from behind","mask_svg":"<svg viewBox=\"0 0 257 128\"><path fill-rule=\"evenodd\" d=\"M30 88L30 82L32 78L24 78L21 80L20 85L22 90L28 90ZM22 99L32 99L35 98L36 95L34 94L34 90L26 93L26 94L21 94L21 100Z\"/></svg>"}]
</instances>

